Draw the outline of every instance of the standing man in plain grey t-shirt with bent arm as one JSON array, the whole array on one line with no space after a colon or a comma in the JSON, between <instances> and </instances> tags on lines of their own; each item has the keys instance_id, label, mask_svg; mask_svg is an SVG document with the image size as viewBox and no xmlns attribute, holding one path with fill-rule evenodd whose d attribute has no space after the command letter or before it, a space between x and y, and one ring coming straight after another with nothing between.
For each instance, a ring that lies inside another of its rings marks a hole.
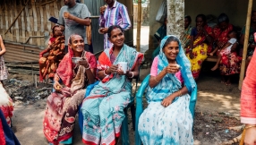
<instances>
[{"instance_id":1,"label":"standing man in plain grey t-shirt with bent arm","mask_svg":"<svg viewBox=\"0 0 256 145\"><path fill-rule=\"evenodd\" d=\"M68 38L72 34L81 35L84 38L84 50L92 52L86 38L86 26L90 25L90 12L85 4L76 3L76 0L64 0L58 23L65 32L65 53L68 52Z\"/></svg>"}]
</instances>

